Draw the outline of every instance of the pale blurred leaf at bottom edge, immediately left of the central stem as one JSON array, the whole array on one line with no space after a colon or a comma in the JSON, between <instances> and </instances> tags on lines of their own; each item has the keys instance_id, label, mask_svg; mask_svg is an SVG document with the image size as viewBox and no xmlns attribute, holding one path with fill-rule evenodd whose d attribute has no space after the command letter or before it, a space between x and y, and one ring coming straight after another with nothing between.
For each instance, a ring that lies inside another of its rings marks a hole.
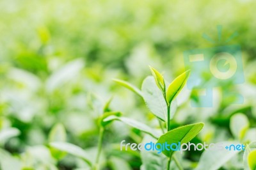
<instances>
[{"instance_id":1,"label":"pale blurred leaf at bottom edge, immediately left of the central stem","mask_svg":"<svg viewBox=\"0 0 256 170\"><path fill-rule=\"evenodd\" d=\"M150 135L145 135L142 143L156 143L156 139ZM166 170L167 158L156 150L146 151L144 148L140 152L143 168L147 170Z\"/></svg>"}]
</instances>

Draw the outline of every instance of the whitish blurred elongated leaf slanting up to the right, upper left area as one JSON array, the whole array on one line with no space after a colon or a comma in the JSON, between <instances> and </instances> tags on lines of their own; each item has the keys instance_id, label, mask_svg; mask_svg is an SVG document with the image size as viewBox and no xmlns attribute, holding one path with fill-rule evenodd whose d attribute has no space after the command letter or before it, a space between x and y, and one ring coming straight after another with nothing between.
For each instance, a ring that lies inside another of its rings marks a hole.
<instances>
[{"instance_id":1,"label":"whitish blurred elongated leaf slanting up to the right, upper left area","mask_svg":"<svg viewBox=\"0 0 256 170\"><path fill-rule=\"evenodd\" d=\"M46 84L47 91L54 91L54 89L60 88L63 84L71 81L79 75L83 67L83 59L70 61L49 77Z\"/></svg>"}]
</instances>

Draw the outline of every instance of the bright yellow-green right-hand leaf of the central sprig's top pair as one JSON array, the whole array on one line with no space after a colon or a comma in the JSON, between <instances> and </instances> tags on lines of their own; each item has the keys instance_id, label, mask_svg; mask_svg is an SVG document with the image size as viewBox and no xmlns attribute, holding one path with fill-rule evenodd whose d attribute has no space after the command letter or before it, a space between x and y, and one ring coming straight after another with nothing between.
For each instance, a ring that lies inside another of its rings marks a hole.
<instances>
[{"instance_id":1,"label":"bright yellow-green right-hand leaf of the central sprig's top pair","mask_svg":"<svg viewBox=\"0 0 256 170\"><path fill-rule=\"evenodd\" d=\"M177 95L179 95L182 88L185 86L190 70L180 74L174 81L168 86L166 92L166 101L170 104Z\"/></svg>"}]
</instances>

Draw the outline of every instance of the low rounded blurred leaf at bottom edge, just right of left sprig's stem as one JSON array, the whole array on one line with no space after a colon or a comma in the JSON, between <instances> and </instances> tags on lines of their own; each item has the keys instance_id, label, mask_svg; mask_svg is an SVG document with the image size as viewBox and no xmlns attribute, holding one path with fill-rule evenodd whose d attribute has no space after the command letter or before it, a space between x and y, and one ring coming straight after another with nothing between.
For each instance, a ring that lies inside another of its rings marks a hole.
<instances>
[{"instance_id":1,"label":"low rounded blurred leaf at bottom edge, just right of left sprig's stem","mask_svg":"<svg viewBox=\"0 0 256 170\"><path fill-rule=\"evenodd\" d=\"M109 164L113 170L132 170L131 166L122 158L111 157Z\"/></svg>"}]
</instances>

